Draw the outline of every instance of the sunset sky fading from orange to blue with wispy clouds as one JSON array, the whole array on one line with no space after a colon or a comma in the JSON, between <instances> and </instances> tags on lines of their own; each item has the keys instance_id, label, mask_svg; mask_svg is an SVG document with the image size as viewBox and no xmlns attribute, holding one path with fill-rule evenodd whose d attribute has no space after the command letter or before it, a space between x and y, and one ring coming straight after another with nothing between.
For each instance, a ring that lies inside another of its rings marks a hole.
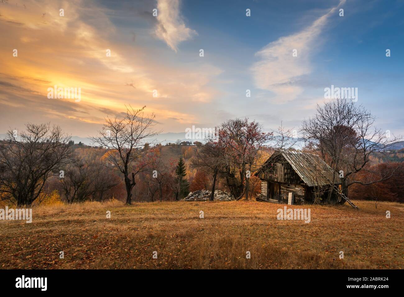
<instances>
[{"instance_id":1,"label":"sunset sky fading from orange to blue with wispy clouds","mask_svg":"<svg viewBox=\"0 0 404 297\"><path fill-rule=\"evenodd\" d=\"M404 134L403 15L403 0L0 0L0 133L94 136L125 105L163 133L244 117L298 130L334 85ZM55 85L80 100L49 98Z\"/></svg>"}]
</instances>

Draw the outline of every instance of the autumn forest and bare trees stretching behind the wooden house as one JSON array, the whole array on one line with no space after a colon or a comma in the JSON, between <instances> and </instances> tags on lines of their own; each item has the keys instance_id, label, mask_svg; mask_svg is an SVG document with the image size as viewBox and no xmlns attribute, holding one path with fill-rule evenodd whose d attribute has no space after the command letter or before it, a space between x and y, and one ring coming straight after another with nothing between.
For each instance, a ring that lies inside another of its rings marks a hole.
<instances>
[{"instance_id":1,"label":"autumn forest and bare trees stretching behind the wooden house","mask_svg":"<svg viewBox=\"0 0 404 297\"><path fill-rule=\"evenodd\" d=\"M51 123L8 131L0 142L2 203L178 201L204 189L212 191L210 200L215 190L253 200L261 192L254 173L278 149L320 156L341 177L349 198L404 202L404 152L389 150L401 136L375 127L375 116L356 103L334 99L318 105L299 129L301 148L292 129L281 124L267 132L248 118L227 120L194 143L162 145L154 142L161 133L155 121L145 107L128 107L122 118L105 118L90 137L92 145L74 143Z\"/></svg>"}]
</instances>

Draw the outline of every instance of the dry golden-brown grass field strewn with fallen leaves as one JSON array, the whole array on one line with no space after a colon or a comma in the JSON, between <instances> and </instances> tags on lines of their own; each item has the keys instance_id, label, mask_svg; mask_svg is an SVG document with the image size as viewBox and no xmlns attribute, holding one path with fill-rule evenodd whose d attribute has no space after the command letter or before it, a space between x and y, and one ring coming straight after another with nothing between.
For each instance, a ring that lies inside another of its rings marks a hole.
<instances>
[{"instance_id":1,"label":"dry golden-brown grass field strewn with fallen leaves","mask_svg":"<svg viewBox=\"0 0 404 297\"><path fill-rule=\"evenodd\" d=\"M38 206L32 223L0 221L0 268L403 268L404 205L355 203L307 205L310 223L255 201Z\"/></svg>"}]
</instances>

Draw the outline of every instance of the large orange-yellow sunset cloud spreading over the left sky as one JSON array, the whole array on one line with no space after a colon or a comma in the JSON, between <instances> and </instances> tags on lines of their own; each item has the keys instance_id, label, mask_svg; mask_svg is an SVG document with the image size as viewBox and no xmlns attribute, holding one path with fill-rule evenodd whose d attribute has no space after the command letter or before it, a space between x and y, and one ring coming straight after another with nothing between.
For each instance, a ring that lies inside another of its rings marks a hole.
<instances>
[{"instance_id":1,"label":"large orange-yellow sunset cloud spreading over the left sky","mask_svg":"<svg viewBox=\"0 0 404 297\"><path fill-rule=\"evenodd\" d=\"M155 7L148 6L152 3L148 0L140 2L135 2L137 12L151 12ZM45 7L26 0L27 9L1 7L3 16L25 25L15 26L0 17L4 27L0 42L0 133L28 121L52 122L72 135L86 137L100 129L105 116L119 117L125 104L134 108L146 105L147 112L156 113L156 128L166 131L183 131L203 112L210 117L204 107L221 97L213 84L223 72L219 67L203 59L181 59L173 65L163 55L167 46L150 34L155 23L149 22L143 31L143 19L140 25L133 23L133 13L128 17L130 29L122 30L111 17L117 13L115 8L99 9L99 3L93 1L86 1L86 8L79 0L66 2L69 6L63 3L49 2ZM60 7L65 8L64 17L59 17ZM45 12L47 25L37 25ZM139 37L136 42L131 39L133 26ZM18 49L18 57L13 57L13 48ZM111 50L110 57L106 49ZM80 87L81 101L48 99L47 88L54 85ZM158 97L152 96L154 89Z\"/></svg>"}]
</instances>

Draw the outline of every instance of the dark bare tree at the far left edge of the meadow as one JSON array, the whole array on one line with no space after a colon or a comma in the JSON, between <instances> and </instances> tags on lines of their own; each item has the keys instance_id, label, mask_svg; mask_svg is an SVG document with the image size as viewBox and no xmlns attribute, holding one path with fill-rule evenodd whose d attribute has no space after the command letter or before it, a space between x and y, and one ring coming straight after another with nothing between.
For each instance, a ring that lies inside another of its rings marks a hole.
<instances>
[{"instance_id":1,"label":"dark bare tree at the far left edge of the meadow","mask_svg":"<svg viewBox=\"0 0 404 297\"><path fill-rule=\"evenodd\" d=\"M17 138L16 131L8 131L0 141L0 198L30 206L43 194L46 180L71 162L70 137L59 126L27 124Z\"/></svg>"}]
</instances>

